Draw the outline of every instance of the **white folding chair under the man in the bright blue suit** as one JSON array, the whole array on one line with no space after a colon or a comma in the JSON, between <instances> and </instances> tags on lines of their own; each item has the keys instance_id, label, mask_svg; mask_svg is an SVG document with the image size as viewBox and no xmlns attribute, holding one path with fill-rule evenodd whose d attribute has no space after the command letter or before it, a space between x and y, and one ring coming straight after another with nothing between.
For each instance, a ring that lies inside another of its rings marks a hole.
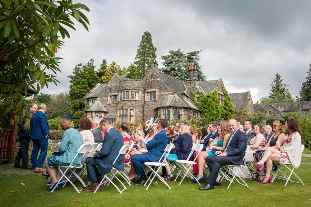
<instances>
[{"instance_id":1,"label":"white folding chair under the man in the bright blue suit","mask_svg":"<svg viewBox=\"0 0 311 207\"><path fill-rule=\"evenodd\" d=\"M161 182L163 182L168 188L169 190L171 189L169 187L169 185L167 184L167 182L165 182L163 180L163 178L158 174L160 167L164 167L166 164L164 163L164 160L166 159L167 155L169 154L169 152L172 150L174 144L167 144L164 150L164 153L162 154L161 158L159 159L159 162L145 162L144 164L146 165L147 168L149 168L149 170L152 172L150 174L150 176L148 177L148 180L146 181L145 185L147 184L147 182L150 180L149 185L147 186L146 190L148 190L150 184L152 183L153 179L155 177L157 177ZM165 154L166 153L166 154ZM164 159L163 159L164 158ZM162 160L163 159L163 160ZM162 161L161 161L162 160ZM156 171L154 169L152 169L152 167L156 167ZM154 176L152 177L152 179L150 179L150 177L152 176L152 174L154 174Z\"/></svg>"}]
</instances>

